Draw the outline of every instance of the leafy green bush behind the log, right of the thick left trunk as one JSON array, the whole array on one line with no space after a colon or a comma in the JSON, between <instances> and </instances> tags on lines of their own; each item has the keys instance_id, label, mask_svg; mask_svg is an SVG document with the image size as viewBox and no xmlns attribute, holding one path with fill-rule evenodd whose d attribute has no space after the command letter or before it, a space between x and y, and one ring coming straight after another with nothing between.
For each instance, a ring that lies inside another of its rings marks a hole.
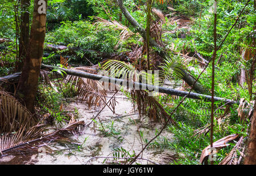
<instances>
[{"instance_id":1,"label":"leafy green bush behind the log, right of the thick left trunk","mask_svg":"<svg viewBox=\"0 0 256 176\"><path fill-rule=\"evenodd\" d=\"M97 63L93 51L100 51L101 53L114 53L115 46L119 41L119 32L112 30L111 27L104 25L93 25L88 21L76 22L61 22L61 27L55 31L48 32L46 35L46 42L61 43L70 47L79 47L87 50L85 54L90 54L94 58L94 63ZM90 51L91 50L91 51ZM82 53L77 53L80 55Z\"/></svg>"}]
</instances>

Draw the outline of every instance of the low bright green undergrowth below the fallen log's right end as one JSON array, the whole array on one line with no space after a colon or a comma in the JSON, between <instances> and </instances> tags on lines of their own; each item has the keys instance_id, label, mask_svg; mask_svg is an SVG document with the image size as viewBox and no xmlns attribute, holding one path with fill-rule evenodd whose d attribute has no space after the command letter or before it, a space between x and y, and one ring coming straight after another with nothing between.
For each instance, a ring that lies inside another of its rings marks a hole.
<instances>
[{"instance_id":1,"label":"low bright green undergrowth below the fallen log's right end","mask_svg":"<svg viewBox=\"0 0 256 176\"><path fill-rule=\"evenodd\" d=\"M177 100L179 101L179 100ZM222 104L216 104L220 107ZM209 132L203 132L199 137L195 134L195 130L200 127L209 125L210 103L197 100L185 100L181 108L176 111L175 119L177 126L168 127L170 132L174 134L174 141L168 143L169 147L175 149L179 153L179 159L173 164L199 164L201 152L210 144ZM217 110L215 117L220 117L224 113L224 109ZM240 134L246 136L246 129L249 122L240 122L237 117L237 105L230 108L231 115L226 117L221 126L214 122L213 141L224 138L230 134ZM232 147L221 149L217 155L218 164L231 151Z\"/></svg>"}]
</instances>

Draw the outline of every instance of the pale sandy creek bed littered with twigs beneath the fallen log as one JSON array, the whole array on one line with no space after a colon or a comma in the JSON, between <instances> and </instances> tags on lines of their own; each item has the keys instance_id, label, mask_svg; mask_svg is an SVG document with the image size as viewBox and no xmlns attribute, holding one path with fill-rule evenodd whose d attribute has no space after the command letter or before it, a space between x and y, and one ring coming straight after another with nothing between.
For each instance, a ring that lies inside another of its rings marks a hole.
<instances>
[{"instance_id":1,"label":"pale sandy creek bed littered with twigs beneath the fallen log","mask_svg":"<svg viewBox=\"0 0 256 176\"><path fill-rule=\"evenodd\" d=\"M109 96L113 94L110 93ZM134 112L133 104L123 98L121 93L117 93L117 105L115 106L115 114L106 107L100 113L101 122L110 124L114 121L113 128L115 131L119 132L119 135L110 135L105 136L99 130L95 131L93 128L93 123L90 127L86 127L84 131L78 136L72 136L73 139L83 143L82 148L79 150L77 147L71 147L70 145L64 144L54 144L51 146L51 149L59 151L55 154L30 154L30 155L18 155L18 156L4 156L0 158L0 164L102 164L105 158L93 158L93 157L112 157L114 149L124 148L130 154L134 152L137 154L142 149L141 138L139 137L137 126L139 126L139 131L143 132L143 138L150 140L155 136L155 130L158 131L162 127L160 123L148 122L148 118L143 118L142 122L139 121L138 112ZM69 103L64 110L74 111L77 109L79 113L79 120L89 123L93 115L98 113L98 110L88 109L88 105L71 102ZM135 124L135 122L136 124ZM106 131L109 129L106 128ZM168 130L164 130L160 135L158 140L165 137L168 141L172 141L172 134ZM71 149L67 149L71 148ZM142 158L146 158L150 161L155 162L156 164L169 164L175 159L175 152L171 149L161 149L161 148L148 148L143 152ZM93 158L90 160L90 158ZM104 162L104 164L113 164L117 163L117 160L113 161L113 158L109 158ZM137 160L139 164L152 164L147 160Z\"/></svg>"}]
</instances>

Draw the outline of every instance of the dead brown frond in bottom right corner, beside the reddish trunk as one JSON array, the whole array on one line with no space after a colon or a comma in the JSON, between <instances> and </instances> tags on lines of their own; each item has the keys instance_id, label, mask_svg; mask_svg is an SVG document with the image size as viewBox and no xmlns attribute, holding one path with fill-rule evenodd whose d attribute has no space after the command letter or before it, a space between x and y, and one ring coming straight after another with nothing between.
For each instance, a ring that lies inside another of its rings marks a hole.
<instances>
[{"instance_id":1,"label":"dead brown frond in bottom right corner, beside the reddish trunk","mask_svg":"<svg viewBox=\"0 0 256 176\"><path fill-rule=\"evenodd\" d=\"M239 165L242 157L245 156L243 153L245 150L245 147L242 147L243 144L243 136L238 140L237 144L234 146L232 151L226 156L220 163L219 165ZM238 158L237 153L239 152L240 157Z\"/></svg>"}]
</instances>

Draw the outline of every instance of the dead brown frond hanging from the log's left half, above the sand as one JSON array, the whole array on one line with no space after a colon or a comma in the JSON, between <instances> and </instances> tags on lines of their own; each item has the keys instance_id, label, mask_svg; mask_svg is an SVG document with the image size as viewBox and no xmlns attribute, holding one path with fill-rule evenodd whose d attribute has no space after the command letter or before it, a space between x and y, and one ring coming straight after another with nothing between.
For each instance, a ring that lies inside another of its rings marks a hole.
<instances>
[{"instance_id":1,"label":"dead brown frond hanging from the log's left half, above the sand","mask_svg":"<svg viewBox=\"0 0 256 176\"><path fill-rule=\"evenodd\" d=\"M88 72L90 74L97 74L97 71L89 67L75 67L71 70ZM77 89L77 100L80 102L86 102L91 108L94 106L102 106L106 102L106 91L100 81L80 78L78 76L68 75L65 83L71 82Z\"/></svg>"}]
</instances>

